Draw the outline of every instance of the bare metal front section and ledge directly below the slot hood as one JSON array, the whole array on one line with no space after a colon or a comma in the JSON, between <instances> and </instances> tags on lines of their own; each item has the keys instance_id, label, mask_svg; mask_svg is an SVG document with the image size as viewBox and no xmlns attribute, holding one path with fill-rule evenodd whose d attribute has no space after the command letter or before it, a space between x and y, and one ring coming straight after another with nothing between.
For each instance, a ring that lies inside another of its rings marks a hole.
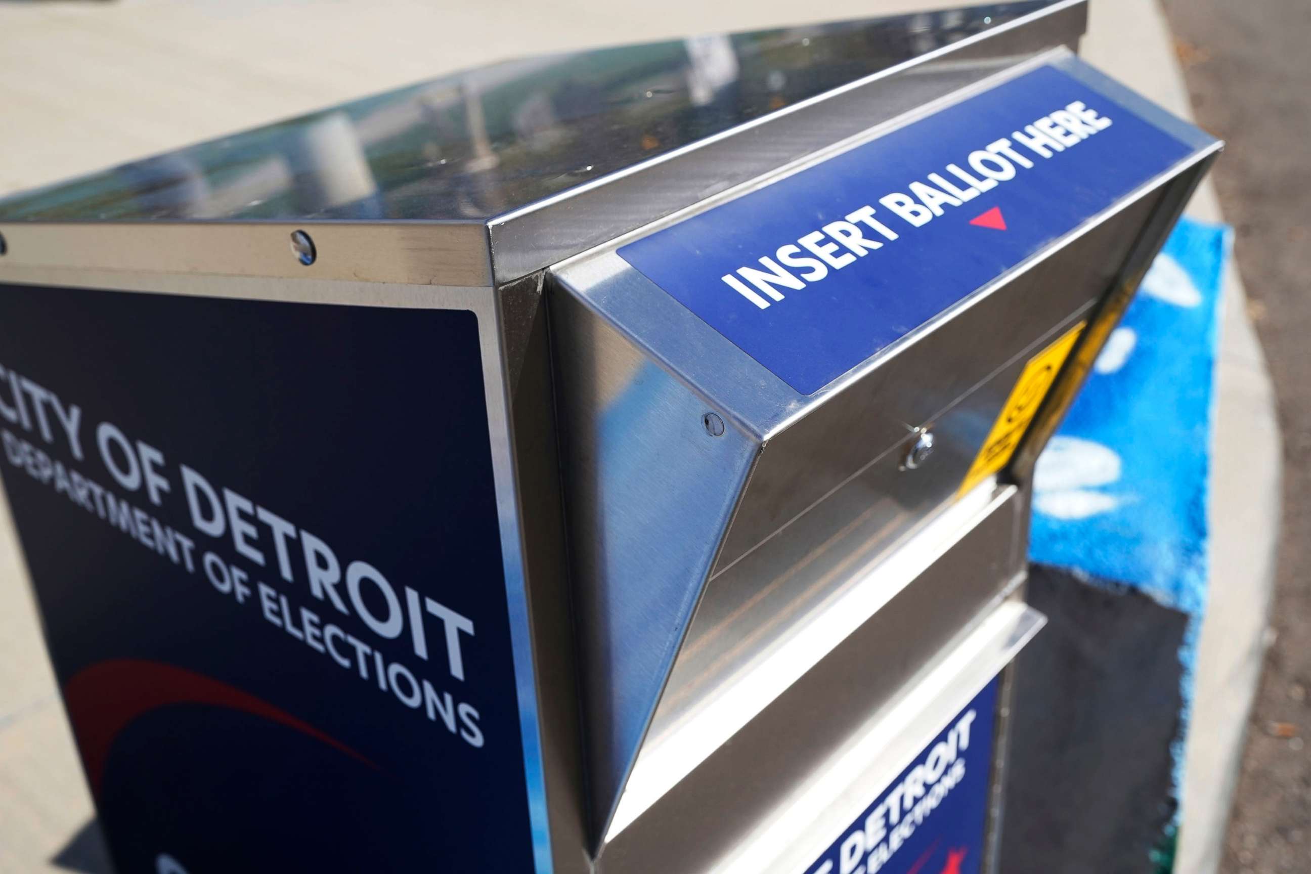
<instances>
[{"instance_id":1,"label":"bare metal front section and ledge directly below the slot hood","mask_svg":"<svg viewBox=\"0 0 1311 874\"><path fill-rule=\"evenodd\" d=\"M863 625L612 833L600 870L759 874L809 871L810 862L823 870L825 848L857 816L864 822L881 789L992 688L1041 626L1013 598L1020 510L1016 490L999 487L964 536L932 523L916 535L943 540L915 544L937 554L922 573L898 579L878 566L853 580L851 600L817 611L859 609L863 590L897 590L877 595L886 600ZM991 704L979 706L990 723Z\"/></svg>"}]
</instances>

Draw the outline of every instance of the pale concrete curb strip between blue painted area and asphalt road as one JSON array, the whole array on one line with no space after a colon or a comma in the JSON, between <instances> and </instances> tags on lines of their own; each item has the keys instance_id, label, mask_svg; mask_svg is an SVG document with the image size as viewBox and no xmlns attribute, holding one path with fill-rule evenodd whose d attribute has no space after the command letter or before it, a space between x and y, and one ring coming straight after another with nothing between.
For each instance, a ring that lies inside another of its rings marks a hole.
<instances>
[{"instance_id":1,"label":"pale concrete curb strip between blue painted area and asphalt road","mask_svg":"<svg viewBox=\"0 0 1311 874\"><path fill-rule=\"evenodd\" d=\"M1192 104L1164 14L1155 3L1095 0L1084 56L1165 109L1192 118ZM1223 160L1223 156L1221 157ZM1188 208L1222 221L1211 183ZM1193 708L1184 752L1181 828L1175 870L1219 867L1243 761L1248 717L1261 677L1274 591L1282 452L1274 389L1247 316L1232 258L1223 280L1210 503L1211 575L1198 641Z\"/></svg>"}]
</instances>

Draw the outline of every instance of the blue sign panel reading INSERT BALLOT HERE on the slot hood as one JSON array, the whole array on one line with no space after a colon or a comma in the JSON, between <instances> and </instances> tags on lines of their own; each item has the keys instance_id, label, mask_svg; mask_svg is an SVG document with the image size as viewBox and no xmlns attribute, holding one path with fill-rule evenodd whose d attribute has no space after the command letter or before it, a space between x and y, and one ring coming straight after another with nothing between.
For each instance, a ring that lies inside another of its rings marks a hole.
<instances>
[{"instance_id":1,"label":"blue sign panel reading INSERT BALLOT HERE on the slot hood","mask_svg":"<svg viewBox=\"0 0 1311 874\"><path fill-rule=\"evenodd\" d=\"M1190 152L1040 67L619 256L813 394Z\"/></svg>"}]
</instances>

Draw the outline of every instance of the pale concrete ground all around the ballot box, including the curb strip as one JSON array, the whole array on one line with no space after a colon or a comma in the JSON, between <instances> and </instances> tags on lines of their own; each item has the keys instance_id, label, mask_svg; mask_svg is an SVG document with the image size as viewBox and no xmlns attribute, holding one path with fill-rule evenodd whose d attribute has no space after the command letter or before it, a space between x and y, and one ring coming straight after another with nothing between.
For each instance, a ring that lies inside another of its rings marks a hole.
<instances>
[{"instance_id":1,"label":"pale concrete ground all around the ballot box, including the curb strip","mask_svg":"<svg viewBox=\"0 0 1311 874\"><path fill-rule=\"evenodd\" d=\"M666 0L659 16L624 5L522 0L438 7L417 0L121 0L0 5L0 194L52 182L517 55L825 20L950 0ZM1086 56L1172 111L1186 90L1159 10L1093 0ZM1223 160L1223 159L1222 159ZM1190 207L1219 220L1205 186ZM1213 482L1211 605L1198 685L1176 870L1211 871L1260 672L1280 451L1269 379L1236 271L1227 282ZM0 507L0 873L51 870L93 816ZM66 857L72 861L71 857Z\"/></svg>"}]
</instances>

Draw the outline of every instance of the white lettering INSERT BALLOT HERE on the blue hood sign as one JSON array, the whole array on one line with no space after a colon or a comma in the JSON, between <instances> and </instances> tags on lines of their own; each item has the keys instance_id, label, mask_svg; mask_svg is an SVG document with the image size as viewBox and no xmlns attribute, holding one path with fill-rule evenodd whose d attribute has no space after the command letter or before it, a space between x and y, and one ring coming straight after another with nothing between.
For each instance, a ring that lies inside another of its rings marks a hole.
<instances>
[{"instance_id":1,"label":"white lettering INSERT BALLOT HERE on the blue hood sign","mask_svg":"<svg viewBox=\"0 0 1311 874\"><path fill-rule=\"evenodd\" d=\"M801 291L823 282L831 273L860 262L901 235L927 225L944 215L948 207L964 206L1110 124L1109 117L1083 101L1075 101L1025 124L1024 130L1013 131L1008 138L992 139L961 162L948 164L940 172L928 173L924 180L910 182L905 191L880 197L877 203L897 216L898 220L893 221L897 227L876 218L880 212L872 204L853 204L855 208L842 219L762 256L758 258L759 267L742 266L721 279L745 300L766 309L784 300L787 291Z\"/></svg>"}]
</instances>

